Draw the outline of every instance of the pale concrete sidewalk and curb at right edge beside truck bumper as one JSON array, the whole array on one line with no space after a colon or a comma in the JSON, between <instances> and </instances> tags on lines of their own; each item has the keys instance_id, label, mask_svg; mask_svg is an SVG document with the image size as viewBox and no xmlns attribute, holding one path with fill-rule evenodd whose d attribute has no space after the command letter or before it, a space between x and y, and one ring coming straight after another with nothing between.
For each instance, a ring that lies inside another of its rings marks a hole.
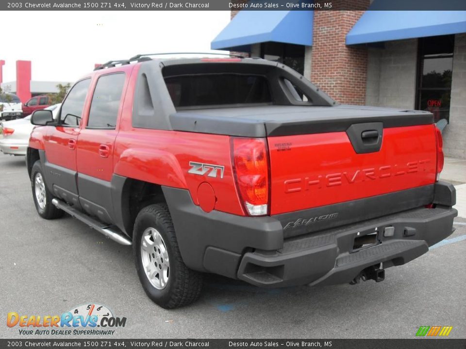
<instances>
[{"instance_id":1,"label":"pale concrete sidewalk and curb at right edge beside truck bumper","mask_svg":"<svg viewBox=\"0 0 466 349\"><path fill-rule=\"evenodd\" d=\"M440 179L450 182L456 188L456 205L458 217L466 218L466 160L445 158L445 165Z\"/></svg>"}]
</instances>

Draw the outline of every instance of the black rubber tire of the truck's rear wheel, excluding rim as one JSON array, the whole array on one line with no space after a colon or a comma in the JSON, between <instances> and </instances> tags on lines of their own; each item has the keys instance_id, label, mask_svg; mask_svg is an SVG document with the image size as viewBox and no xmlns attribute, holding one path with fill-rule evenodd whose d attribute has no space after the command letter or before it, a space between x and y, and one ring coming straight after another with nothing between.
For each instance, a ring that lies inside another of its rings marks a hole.
<instances>
[{"instance_id":1,"label":"black rubber tire of the truck's rear wheel, excluding rim","mask_svg":"<svg viewBox=\"0 0 466 349\"><path fill-rule=\"evenodd\" d=\"M168 281L162 289L151 284L142 261L141 240L148 228L156 229L161 235L168 254ZM184 264L166 204L149 205L139 211L134 223L133 251L139 280L152 301L162 308L173 309L188 305L199 298L202 274L189 269Z\"/></svg>"}]
</instances>

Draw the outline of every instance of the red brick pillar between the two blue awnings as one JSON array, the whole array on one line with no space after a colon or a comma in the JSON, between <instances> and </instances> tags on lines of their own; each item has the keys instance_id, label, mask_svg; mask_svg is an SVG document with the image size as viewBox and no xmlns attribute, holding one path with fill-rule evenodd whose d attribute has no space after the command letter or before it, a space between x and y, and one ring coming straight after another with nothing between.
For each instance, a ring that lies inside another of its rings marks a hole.
<instances>
[{"instance_id":1,"label":"red brick pillar between the two blue awnings","mask_svg":"<svg viewBox=\"0 0 466 349\"><path fill-rule=\"evenodd\" d=\"M369 0L360 1L366 9ZM367 48L346 46L346 34L364 11L314 12L311 81L339 103L366 102Z\"/></svg>"}]
</instances>

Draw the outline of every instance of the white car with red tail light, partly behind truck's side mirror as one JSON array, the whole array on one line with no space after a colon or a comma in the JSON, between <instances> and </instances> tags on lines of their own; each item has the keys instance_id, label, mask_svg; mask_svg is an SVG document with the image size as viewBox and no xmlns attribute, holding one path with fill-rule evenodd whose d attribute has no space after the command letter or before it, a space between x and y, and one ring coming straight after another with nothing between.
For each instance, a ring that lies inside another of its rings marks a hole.
<instances>
[{"instance_id":1,"label":"white car with red tail light, partly behind truck's side mirror","mask_svg":"<svg viewBox=\"0 0 466 349\"><path fill-rule=\"evenodd\" d=\"M61 104L54 104L45 108L51 110L55 118ZM0 139L0 152L9 155L26 155L29 136L34 128L31 124L31 115L22 119L0 122L3 138Z\"/></svg>"}]
</instances>

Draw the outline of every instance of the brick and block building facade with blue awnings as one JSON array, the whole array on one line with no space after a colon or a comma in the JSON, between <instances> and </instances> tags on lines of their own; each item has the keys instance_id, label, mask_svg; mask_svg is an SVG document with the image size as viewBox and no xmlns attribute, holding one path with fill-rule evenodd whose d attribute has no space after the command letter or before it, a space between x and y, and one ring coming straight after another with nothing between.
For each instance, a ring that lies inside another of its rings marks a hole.
<instances>
[{"instance_id":1,"label":"brick and block building facade with blue awnings","mask_svg":"<svg viewBox=\"0 0 466 349\"><path fill-rule=\"evenodd\" d=\"M342 104L428 110L466 159L466 11L232 11L213 49L289 65Z\"/></svg>"}]
</instances>

